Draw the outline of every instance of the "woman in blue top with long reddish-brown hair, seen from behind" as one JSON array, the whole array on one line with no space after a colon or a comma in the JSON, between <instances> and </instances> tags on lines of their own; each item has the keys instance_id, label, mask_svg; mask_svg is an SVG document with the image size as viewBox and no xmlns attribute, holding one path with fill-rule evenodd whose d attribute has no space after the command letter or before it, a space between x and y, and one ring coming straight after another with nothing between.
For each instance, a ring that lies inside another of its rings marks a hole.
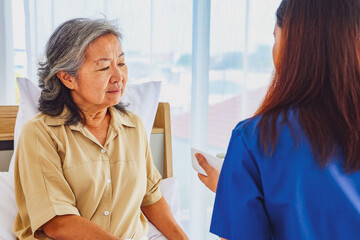
<instances>
[{"instance_id":1,"label":"woman in blue top with long reddish-brown hair, seen from behind","mask_svg":"<svg viewBox=\"0 0 360 240\"><path fill-rule=\"evenodd\" d=\"M360 1L283 0L275 74L234 129L210 231L227 239L360 239Z\"/></svg>"}]
</instances>

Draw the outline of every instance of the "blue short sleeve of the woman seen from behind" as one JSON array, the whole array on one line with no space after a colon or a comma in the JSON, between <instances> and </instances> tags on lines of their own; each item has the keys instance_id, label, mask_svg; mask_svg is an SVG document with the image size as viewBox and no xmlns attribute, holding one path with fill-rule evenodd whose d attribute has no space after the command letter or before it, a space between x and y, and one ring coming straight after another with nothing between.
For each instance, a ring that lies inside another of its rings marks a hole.
<instances>
[{"instance_id":1,"label":"blue short sleeve of the woman seen from behind","mask_svg":"<svg viewBox=\"0 0 360 240\"><path fill-rule=\"evenodd\" d=\"M210 231L226 239L271 239L260 171L235 130L220 173Z\"/></svg>"}]
</instances>

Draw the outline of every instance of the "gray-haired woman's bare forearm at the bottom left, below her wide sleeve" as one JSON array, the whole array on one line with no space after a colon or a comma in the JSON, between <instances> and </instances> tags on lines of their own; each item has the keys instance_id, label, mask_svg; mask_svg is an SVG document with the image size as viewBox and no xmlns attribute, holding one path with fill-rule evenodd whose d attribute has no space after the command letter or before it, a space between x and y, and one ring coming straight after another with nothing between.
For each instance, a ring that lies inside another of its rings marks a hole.
<instances>
[{"instance_id":1,"label":"gray-haired woman's bare forearm at the bottom left, below her wide sleeve","mask_svg":"<svg viewBox=\"0 0 360 240\"><path fill-rule=\"evenodd\" d=\"M77 215L56 216L41 229L52 239L119 240L95 223Z\"/></svg>"}]
</instances>

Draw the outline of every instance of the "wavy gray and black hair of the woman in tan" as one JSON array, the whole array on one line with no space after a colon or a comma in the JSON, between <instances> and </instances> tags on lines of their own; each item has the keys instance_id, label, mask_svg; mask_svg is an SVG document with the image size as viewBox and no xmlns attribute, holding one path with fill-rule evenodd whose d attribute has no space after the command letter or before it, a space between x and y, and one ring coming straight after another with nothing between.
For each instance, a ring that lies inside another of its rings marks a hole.
<instances>
[{"instance_id":1,"label":"wavy gray and black hair of the woman in tan","mask_svg":"<svg viewBox=\"0 0 360 240\"><path fill-rule=\"evenodd\" d=\"M63 85L56 74L59 71L66 71L70 76L76 77L85 61L85 51L89 44L106 34L113 34L119 41L122 39L116 25L105 19L75 18L56 28L46 44L45 59L39 62L41 112L58 116L64 106L67 106L72 112L68 123L79 121L80 116L74 116L75 111L79 112L79 109L72 101L70 90Z\"/></svg>"}]
</instances>

